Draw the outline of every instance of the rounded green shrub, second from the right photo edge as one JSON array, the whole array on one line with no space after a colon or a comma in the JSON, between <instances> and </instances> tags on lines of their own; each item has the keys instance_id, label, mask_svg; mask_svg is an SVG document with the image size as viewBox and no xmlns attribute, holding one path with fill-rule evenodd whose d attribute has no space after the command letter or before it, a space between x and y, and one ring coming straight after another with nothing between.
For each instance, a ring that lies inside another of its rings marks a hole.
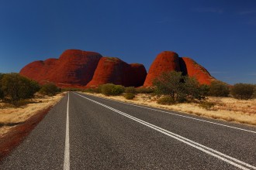
<instances>
[{"instance_id":1,"label":"rounded green shrub, second from the right photo edge","mask_svg":"<svg viewBox=\"0 0 256 170\"><path fill-rule=\"evenodd\" d=\"M230 93L227 83L222 81L213 81L209 85L209 96L213 97L227 97Z\"/></svg>"}]
</instances>

